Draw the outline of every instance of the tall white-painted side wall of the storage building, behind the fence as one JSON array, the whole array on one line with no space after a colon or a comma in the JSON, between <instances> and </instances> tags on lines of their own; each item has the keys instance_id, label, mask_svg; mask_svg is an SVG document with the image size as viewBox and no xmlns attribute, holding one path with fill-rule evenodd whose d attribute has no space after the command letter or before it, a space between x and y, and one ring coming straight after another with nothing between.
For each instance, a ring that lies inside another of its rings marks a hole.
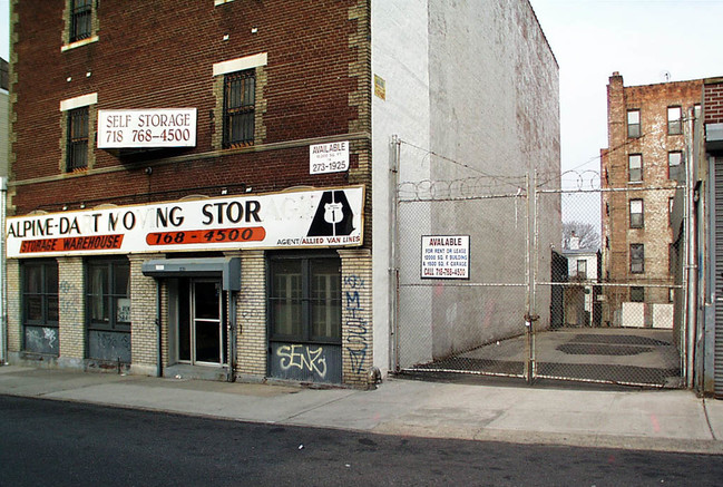
<instances>
[{"instance_id":1,"label":"tall white-painted side wall of the storage building, behind the fence","mask_svg":"<svg viewBox=\"0 0 723 487\"><path fill-rule=\"evenodd\" d=\"M390 140L401 146L400 182L502 176L494 193L515 194L525 175L559 185L559 77L528 0L372 0L373 75L387 100L372 96L374 364L389 367L391 265ZM372 87L373 90L373 87ZM441 155L437 157L429 152ZM460 164L450 163L449 159ZM470 168L462 167L470 166ZM509 182L509 176L518 176ZM400 232L469 234L478 282L525 282L525 204L510 198L470 211L419 205L403 213ZM522 201L524 202L524 201ZM549 245L561 238L559 196L540 199L540 272L549 277ZM400 272L418 276L419 245L400 247ZM417 327L402 343L404 364L428 361L480 341L524 331L524 294L500 288L489 302L469 290L414 291L404 321ZM467 294L465 294L467 293ZM538 309L549 309L541 289ZM480 337L480 310L487 327ZM543 314L543 325L549 313ZM409 335L410 333L408 333Z\"/></svg>"}]
</instances>

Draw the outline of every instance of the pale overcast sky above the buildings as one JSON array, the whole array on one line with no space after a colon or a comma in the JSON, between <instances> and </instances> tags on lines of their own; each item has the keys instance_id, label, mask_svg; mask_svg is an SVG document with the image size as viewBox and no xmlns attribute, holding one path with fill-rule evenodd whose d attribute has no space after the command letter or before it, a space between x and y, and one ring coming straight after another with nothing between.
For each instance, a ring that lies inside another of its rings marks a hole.
<instances>
[{"instance_id":1,"label":"pale overcast sky above the buildings","mask_svg":"<svg viewBox=\"0 0 723 487\"><path fill-rule=\"evenodd\" d=\"M468 0L483 2L486 0ZM599 171L606 87L723 76L723 0L530 0L560 72L564 171ZM9 0L0 0L0 57L9 57Z\"/></svg>"}]
</instances>

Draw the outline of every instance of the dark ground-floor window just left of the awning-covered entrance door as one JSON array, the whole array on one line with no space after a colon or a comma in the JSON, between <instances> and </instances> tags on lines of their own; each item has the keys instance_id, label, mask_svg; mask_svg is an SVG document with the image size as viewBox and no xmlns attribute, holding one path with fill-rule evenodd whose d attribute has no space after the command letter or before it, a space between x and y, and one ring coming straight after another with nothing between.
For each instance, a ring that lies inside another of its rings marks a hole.
<instances>
[{"instance_id":1,"label":"dark ground-floor window just left of the awning-covered entrance door","mask_svg":"<svg viewBox=\"0 0 723 487\"><path fill-rule=\"evenodd\" d=\"M86 280L90 330L130 331L130 265L127 260L89 260Z\"/></svg>"}]
</instances>

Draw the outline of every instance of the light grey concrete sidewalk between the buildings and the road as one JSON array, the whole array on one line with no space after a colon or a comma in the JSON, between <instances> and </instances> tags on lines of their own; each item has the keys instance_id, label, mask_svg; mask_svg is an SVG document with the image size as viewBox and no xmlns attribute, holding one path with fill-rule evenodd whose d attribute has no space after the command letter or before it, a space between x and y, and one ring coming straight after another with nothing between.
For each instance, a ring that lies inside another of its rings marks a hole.
<instances>
[{"instance_id":1,"label":"light grey concrete sidewalk between the buildings and the road","mask_svg":"<svg viewBox=\"0 0 723 487\"><path fill-rule=\"evenodd\" d=\"M377 390L360 391L4 366L0 395L373 434L723 455L723 401L685 390L569 390L391 378Z\"/></svg>"}]
</instances>

